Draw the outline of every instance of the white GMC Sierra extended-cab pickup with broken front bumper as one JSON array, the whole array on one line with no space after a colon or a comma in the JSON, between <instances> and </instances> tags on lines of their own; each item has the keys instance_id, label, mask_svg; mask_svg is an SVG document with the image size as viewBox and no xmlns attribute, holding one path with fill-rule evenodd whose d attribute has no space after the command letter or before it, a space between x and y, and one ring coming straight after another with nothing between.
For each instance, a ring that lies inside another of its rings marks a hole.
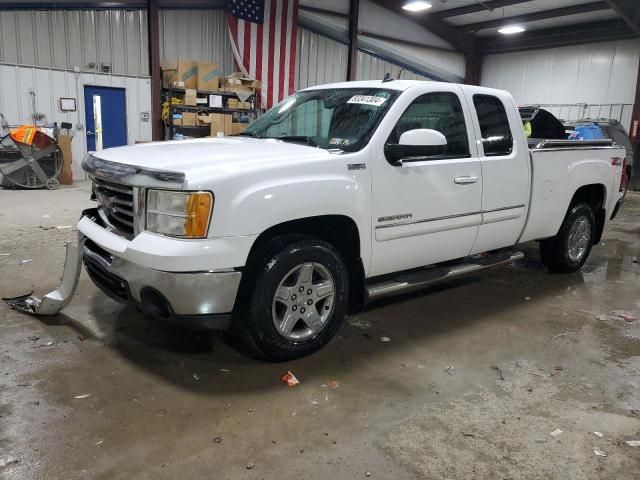
<instances>
[{"instance_id":1,"label":"white GMC Sierra extended-cab pickup with broken front bumper","mask_svg":"<svg viewBox=\"0 0 640 480\"><path fill-rule=\"evenodd\" d=\"M255 352L314 352L350 309L522 257L586 261L627 178L611 141L527 140L509 93L418 81L300 91L240 136L113 148L84 168L60 288L9 300L54 314L84 263L106 294Z\"/></svg>"}]
</instances>

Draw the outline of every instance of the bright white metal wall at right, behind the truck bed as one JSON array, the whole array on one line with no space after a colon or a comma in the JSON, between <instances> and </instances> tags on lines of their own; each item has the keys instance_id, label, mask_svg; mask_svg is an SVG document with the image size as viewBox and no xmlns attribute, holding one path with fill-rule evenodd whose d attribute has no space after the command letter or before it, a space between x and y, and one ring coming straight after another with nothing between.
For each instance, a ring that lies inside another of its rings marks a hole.
<instances>
[{"instance_id":1,"label":"bright white metal wall at right, behind the truck bed","mask_svg":"<svg viewBox=\"0 0 640 480\"><path fill-rule=\"evenodd\" d=\"M596 106L583 112L590 116L611 109L628 129L631 113L622 106L635 101L639 61L640 40L489 55L482 85L510 91L519 104Z\"/></svg>"}]
</instances>

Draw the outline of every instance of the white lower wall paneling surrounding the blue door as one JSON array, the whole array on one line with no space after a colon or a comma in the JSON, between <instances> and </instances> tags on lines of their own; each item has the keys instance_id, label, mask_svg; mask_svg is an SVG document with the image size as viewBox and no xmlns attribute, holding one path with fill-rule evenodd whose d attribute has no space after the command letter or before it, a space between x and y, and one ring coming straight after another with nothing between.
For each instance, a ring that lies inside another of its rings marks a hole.
<instances>
[{"instance_id":1,"label":"white lower wall paneling surrounding the blue door","mask_svg":"<svg viewBox=\"0 0 640 480\"><path fill-rule=\"evenodd\" d=\"M77 79L77 89L76 89ZM125 89L127 107L127 139L151 140L151 123L141 120L141 113L151 110L151 85L148 78L79 73L48 68L0 65L0 112L10 125L31 123L31 97L36 93L36 111L46 115L47 122L70 122L74 128L84 125L84 86L96 85ZM76 99L77 112L61 112L60 97ZM87 152L84 130L73 130L73 176L85 178L80 167Z\"/></svg>"}]
</instances>

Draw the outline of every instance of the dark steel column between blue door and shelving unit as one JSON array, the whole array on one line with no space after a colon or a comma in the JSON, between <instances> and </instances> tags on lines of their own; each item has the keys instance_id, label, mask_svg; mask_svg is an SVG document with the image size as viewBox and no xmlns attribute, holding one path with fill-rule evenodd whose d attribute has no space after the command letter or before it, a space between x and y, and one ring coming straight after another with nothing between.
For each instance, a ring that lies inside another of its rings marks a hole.
<instances>
[{"instance_id":1,"label":"dark steel column between blue door and shelving unit","mask_svg":"<svg viewBox=\"0 0 640 480\"><path fill-rule=\"evenodd\" d=\"M154 141L162 140L160 72L160 18L158 0L148 0L147 31L149 33L149 76L151 77L151 135Z\"/></svg>"}]
</instances>

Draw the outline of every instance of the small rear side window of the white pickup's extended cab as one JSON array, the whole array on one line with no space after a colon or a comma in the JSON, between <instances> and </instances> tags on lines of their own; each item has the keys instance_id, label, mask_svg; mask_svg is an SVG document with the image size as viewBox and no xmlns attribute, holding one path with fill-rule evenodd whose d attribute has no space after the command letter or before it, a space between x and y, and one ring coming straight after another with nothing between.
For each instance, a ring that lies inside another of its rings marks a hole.
<instances>
[{"instance_id":1,"label":"small rear side window of the white pickup's extended cab","mask_svg":"<svg viewBox=\"0 0 640 480\"><path fill-rule=\"evenodd\" d=\"M509 155L513 151L513 135L504 105L491 95L474 95L484 154L488 157Z\"/></svg>"}]
</instances>

